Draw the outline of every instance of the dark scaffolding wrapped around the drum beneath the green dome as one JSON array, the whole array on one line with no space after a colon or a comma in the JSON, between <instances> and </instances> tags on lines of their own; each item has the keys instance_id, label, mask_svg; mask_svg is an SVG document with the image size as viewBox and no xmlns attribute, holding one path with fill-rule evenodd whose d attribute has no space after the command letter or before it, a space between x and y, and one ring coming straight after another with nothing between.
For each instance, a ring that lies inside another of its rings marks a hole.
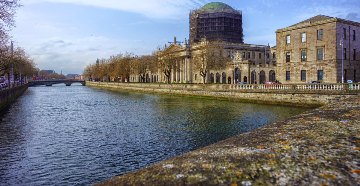
<instances>
[{"instance_id":1,"label":"dark scaffolding wrapped around the drum beneath the green dome","mask_svg":"<svg viewBox=\"0 0 360 186\"><path fill-rule=\"evenodd\" d=\"M222 39L225 42L243 43L242 10L236 8L193 9L189 14L189 43Z\"/></svg>"}]
</instances>

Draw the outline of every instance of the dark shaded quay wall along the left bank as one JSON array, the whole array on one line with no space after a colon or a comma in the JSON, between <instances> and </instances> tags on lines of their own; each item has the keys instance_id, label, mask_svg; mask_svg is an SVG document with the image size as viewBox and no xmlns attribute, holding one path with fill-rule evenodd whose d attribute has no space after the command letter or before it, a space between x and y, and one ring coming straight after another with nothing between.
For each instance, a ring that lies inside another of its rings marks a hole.
<instances>
[{"instance_id":1,"label":"dark shaded quay wall along the left bank","mask_svg":"<svg viewBox=\"0 0 360 186\"><path fill-rule=\"evenodd\" d=\"M11 103L16 97L28 88L28 84L18 85L12 88L0 90L0 110Z\"/></svg>"}]
</instances>

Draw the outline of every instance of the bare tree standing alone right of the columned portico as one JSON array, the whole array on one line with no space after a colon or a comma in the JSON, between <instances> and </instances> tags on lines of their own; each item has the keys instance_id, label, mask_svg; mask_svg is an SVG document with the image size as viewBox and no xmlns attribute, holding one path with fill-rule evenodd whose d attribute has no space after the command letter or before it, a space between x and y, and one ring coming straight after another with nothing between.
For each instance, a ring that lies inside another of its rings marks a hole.
<instances>
[{"instance_id":1,"label":"bare tree standing alone right of the columned portico","mask_svg":"<svg viewBox=\"0 0 360 186\"><path fill-rule=\"evenodd\" d=\"M225 65L226 58L222 55L224 47L220 39L216 41L207 41L205 45L194 51L194 68L200 72L205 84L207 72L210 69L219 68Z\"/></svg>"}]
</instances>

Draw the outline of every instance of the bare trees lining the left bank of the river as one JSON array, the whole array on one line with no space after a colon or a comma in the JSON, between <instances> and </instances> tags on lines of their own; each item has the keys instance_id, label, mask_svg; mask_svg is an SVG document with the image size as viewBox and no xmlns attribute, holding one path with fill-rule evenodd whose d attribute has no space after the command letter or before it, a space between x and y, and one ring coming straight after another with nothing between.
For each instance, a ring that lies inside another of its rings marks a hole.
<instances>
[{"instance_id":1,"label":"bare trees lining the left bank of the river","mask_svg":"<svg viewBox=\"0 0 360 186\"><path fill-rule=\"evenodd\" d=\"M15 28L15 13L21 7L18 0L0 0L0 76L7 75L10 79L11 70L15 79L32 77L36 74L35 62L30 54L21 47L13 47L12 35L9 34ZM9 82L10 83L10 82Z\"/></svg>"}]
</instances>

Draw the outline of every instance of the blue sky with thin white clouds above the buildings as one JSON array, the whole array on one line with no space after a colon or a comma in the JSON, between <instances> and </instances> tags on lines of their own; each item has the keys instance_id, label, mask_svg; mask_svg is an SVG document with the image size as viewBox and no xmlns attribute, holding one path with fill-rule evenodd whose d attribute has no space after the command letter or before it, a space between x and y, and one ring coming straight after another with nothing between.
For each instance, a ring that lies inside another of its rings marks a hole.
<instances>
[{"instance_id":1,"label":"blue sky with thin white clouds above the buildings","mask_svg":"<svg viewBox=\"0 0 360 186\"><path fill-rule=\"evenodd\" d=\"M189 39L189 12L208 0L22 0L11 34L41 70L82 74L111 55L147 55ZM277 29L316 15L360 22L360 0L222 0L243 11L244 43L276 45Z\"/></svg>"}]
</instances>

